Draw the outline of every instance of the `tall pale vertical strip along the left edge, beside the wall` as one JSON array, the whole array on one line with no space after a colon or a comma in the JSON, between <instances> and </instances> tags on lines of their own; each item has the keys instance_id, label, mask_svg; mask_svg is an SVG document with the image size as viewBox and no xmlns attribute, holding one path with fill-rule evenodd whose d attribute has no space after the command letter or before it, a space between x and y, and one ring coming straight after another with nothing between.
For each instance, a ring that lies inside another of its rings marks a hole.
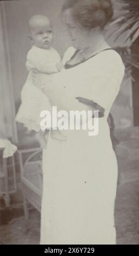
<instances>
[{"instance_id":1,"label":"tall pale vertical strip along the left edge, beside the wall","mask_svg":"<svg viewBox=\"0 0 139 256\"><path fill-rule=\"evenodd\" d=\"M0 137L17 142L15 106L10 72L10 54L4 3L0 3Z\"/></svg>"}]
</instances>

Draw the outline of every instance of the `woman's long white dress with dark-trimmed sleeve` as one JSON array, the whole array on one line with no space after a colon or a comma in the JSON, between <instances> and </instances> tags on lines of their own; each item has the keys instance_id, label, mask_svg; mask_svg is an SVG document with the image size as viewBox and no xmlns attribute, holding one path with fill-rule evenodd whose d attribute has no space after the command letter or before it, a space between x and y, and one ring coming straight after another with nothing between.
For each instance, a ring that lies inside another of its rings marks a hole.
<instances>
[{"instance_id":1,"label":"woman's long white dress with dark-trimmed sleeve","mask_svg":"<svg viewBox=\"0 0 139 256\"><path fill-rule=\"evenodd\" d=\"M67 60L71 52L69 48L65 53ZM97 136L88 136L87 130L68 130L65 142L48 138L43 150L41 244L116 243L117 160L107 118L123 76L122 59L114 50L54 75L61 95L63 88L70 99L93 100L105 109L105 115L99 119Z\"/></svg>"}]
</instances>

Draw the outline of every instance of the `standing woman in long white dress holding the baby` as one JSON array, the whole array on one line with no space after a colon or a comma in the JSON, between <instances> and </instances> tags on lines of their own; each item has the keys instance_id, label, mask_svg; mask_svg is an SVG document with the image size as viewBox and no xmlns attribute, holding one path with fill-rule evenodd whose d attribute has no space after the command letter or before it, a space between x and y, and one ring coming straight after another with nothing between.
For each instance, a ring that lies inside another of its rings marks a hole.
<instances>
[{"instance_id":1,"label":"standing woman in long white dress holding the baby","mask_svg":"<svg viewBox=\"0 0 139 256\"><path fill-rule=\"evenodd\" d=\"M67 0L63 6L74 48L65 69L36 86L58 109L99 109L99 132L64 131L65 141L48 138L43 151L42 244L115 244L114 205L117 161L107 123L120 90L124 65L103 37L112 17L110 0ZM76 50L75 50L76 49Z\"/></svg>"}]
</instances>

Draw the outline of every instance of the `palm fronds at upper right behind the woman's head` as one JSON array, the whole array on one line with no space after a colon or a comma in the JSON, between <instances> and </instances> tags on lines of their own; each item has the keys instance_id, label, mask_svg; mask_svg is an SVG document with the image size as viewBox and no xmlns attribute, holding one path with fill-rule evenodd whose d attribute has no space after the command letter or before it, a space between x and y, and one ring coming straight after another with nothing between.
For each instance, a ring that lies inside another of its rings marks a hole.
<instances>
[{"instance_id":1,"label":"palm fronds at upper right behind the woman's head","mask_svg":"<svg viewBox=\"0 0 139 256\"><path fill-rule=\"evenodd\" d=\"M115 31L113 36L117 41L123 35L123 44L128 45L128 47L117 47L116 50L121 54L127 70L130 70L131 66L139 69L139 54L131 51L134 42L139 39L139 0L116 2L122 5L120 5L120 14L114 17L111 23Z\"/></svg>"}]
</instances>

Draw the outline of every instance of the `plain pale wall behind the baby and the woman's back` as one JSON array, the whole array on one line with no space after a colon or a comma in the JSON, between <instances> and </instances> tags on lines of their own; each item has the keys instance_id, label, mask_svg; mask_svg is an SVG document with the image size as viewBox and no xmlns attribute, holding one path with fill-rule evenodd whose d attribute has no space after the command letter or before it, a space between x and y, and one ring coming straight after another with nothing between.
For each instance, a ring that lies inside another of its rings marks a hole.
<instances>
[{"instance_id":1,"label":"plain pale wall behind the baby and the woman's back","mask_svg":"<svg viewBox=\"0 0 139 256\"><path fill-rule=\"evenodd\" d=\"M52 21L55 32L54 47L61 53L70 45L68 36L61 19L61 6L63 0L20 0L3 1L7 21L12 82L16 109L20 102L21 88L27 77L25 60L30 48L28 39L28 20L32 15L48 15ZM111 45L113 40L110 39ZM116 127L128 127L133 125L133 109L131 95L131 81L128 79L122 85L113 108Z\"/></svg>"}]
</instances>

